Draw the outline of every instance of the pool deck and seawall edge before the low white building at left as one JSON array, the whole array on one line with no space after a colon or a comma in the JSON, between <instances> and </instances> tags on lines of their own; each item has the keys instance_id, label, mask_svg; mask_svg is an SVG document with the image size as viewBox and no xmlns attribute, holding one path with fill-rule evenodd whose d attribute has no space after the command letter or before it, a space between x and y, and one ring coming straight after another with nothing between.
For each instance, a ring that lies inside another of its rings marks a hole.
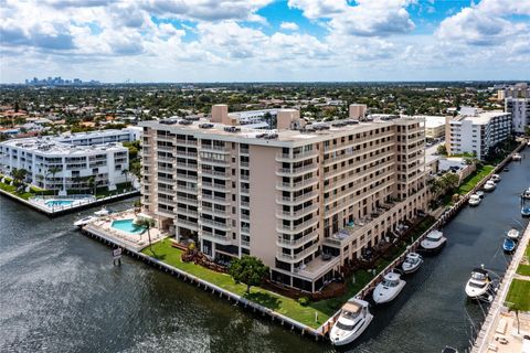
<instances>
[{"instance_id":1,"label":"pool deck and seawall edge before the low white building at left","mask_svg":"<svg viewBox=\"0 0 530 353\"><path fill-rule=\"evenodd\" d=\"M1 190L0 189L0 195L4 195L7 197L10 197L19 203L22 203L24 205L26 205L28 207L36 211L36 212L40 212L40 213L43 213L45 214L46 216L49 217L57 217L57 216L62 216L62 215L65 215L65 214L68 214L68 213L75 213L75 212L78 212L78 211L82 211L82 210L85 210L85 208L91 208L91 207L96 207L96 206L102 206L102 205L105 205L105 204L108 204L108 203L112 203L112 202L116 202L116 201L120 201L120 200L125 200L125 199L129 199L129 197L134 197L134 196L139 196L140 195L140 192L138 190L132 190L132 191L128 191L128 192L125 192L125 193L121 193L121 194L117 194L117 195L109 195L109 196L106 196L106 197L102 197L102 199L92 199L92 200L87 200L85 199L84 201L81 201L78 203L73 203L72 205L67 205L67 206L56 206L56 207L49 207L47 205L43 204L43 202L33 202L31 199L30 201L28 200L24 200L24 199L21 199L17 195L13 195L4 190ZM40 200L40 196L36 197ZM47 196L45 201L47 200L74 200L75 199L75 195L70 195L70 196Z\"/></svg>"}]
</instances>

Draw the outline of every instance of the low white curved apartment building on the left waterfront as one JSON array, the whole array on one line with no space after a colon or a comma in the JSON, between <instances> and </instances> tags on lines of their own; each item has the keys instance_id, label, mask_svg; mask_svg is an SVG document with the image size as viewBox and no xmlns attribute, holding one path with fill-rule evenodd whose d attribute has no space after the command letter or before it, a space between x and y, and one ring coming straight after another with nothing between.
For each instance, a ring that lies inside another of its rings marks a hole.
<instances>
[{"instance_id":1,"label":"low white curved apartment building on the left waterfront","mask_svg":"<svg viewBox=\"0 0 530 353\"><path fill-rule=\"evenodd\" d=\"M94 178L97 188L116 190L126 181L121 172L129 165L129 151L119 143L78 146L62 138L13 139L0 143L0 171L25 169L26 181L46 190L86 190ZM55 172L54 172L55 171Z\"/></svg>"}]
</instances>

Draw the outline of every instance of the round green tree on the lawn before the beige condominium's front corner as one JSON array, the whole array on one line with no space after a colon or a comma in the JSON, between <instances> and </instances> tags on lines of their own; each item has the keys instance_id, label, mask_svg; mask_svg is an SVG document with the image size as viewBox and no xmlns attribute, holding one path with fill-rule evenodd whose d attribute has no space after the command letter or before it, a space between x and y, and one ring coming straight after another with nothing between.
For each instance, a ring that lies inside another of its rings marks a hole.
<instances>
[{"instance_id":1,"label":"round green tree on the lawn before the beige condominium's front corner","mask_svg":"<svg viewBox=\"0 0 530 353\"><path fill-rule=\"evenodd\" d=\"M265 276L268 275L268 267L254 256L243 256L232 260L229 274L236 284L246 285L246 292L251 292L252 286L262 284Z\"/></svg>"}]
</instances>

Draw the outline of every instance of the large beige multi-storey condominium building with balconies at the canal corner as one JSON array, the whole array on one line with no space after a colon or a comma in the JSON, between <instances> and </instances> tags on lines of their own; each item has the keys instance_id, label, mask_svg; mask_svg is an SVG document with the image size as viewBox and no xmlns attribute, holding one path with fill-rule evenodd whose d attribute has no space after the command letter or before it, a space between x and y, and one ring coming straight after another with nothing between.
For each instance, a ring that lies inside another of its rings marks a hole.
<instances>
[{"instance_id":1,"label":"large beige multi-storey condominium building with balconies at the canal corner","mask_svg":"<svg viewBox=\"0 0 530 353\"><path fill-rule=\"evenodd\" d=\"M423 121L306 126L285 109L277 122L141 122L142 207L211 258L257 256L273 280L318 291L425 210Z\"/></svg>"}]
</instances>

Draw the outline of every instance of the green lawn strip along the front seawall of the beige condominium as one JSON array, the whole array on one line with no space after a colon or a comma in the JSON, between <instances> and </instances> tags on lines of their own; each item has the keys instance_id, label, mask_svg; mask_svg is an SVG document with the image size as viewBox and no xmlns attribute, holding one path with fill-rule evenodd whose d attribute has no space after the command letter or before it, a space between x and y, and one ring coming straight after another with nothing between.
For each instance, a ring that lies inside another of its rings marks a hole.
<instances>
[{"instance_id":1,"label":"green lawn strip along the front seawall of the beige condominium","mask_svg":"<svg viewBox=\"0 0 530 353\"><path fill-rule=\"evenodd\" d=\"M181 259L182 250L171 247L171 240L169 238L153 244L152 250L146 248L142 253L314 329L320 327L336 311L320 310L318 306L314 304L303 307L294 299L273 293L258 287L252 287L251 293L247 295L246 286L236 285L229 275L215 272L193 263L183 263ZM318 313L318 321L315 321L315 312Z\"/></svg>"}]
</instances>

